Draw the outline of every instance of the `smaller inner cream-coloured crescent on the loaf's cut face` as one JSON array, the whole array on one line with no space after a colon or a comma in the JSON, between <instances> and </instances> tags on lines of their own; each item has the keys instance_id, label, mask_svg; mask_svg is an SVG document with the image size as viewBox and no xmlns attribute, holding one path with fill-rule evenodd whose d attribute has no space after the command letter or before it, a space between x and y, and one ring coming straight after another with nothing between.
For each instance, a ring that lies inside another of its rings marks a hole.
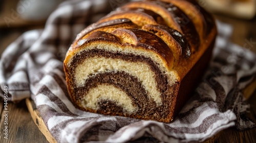
<instances>
[{"instance_id":1,"label":"smaller inner cream-coloured crescent on the loaf's cut face","mask_svg":"<svg viewBox=\"0 0 256 143\"><path fill-rule=\"evenodd\" d=\"M100 99L114 101L118 106L123 108L123 112L133 113L138 110L138 107L133 106L132 100L124 91L114 87L113 85L105 84L91 88L88 94L81 101L81 105L84 108L89 107L91 109L98 110L98 102Z\"/></svg>"}]
</instances>

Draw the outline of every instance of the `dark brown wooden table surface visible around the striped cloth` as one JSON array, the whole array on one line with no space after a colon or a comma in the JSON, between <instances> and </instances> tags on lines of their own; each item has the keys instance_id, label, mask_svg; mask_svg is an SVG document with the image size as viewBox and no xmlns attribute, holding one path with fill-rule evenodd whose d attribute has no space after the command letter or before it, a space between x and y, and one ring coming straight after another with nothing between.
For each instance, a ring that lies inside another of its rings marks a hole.
<instances>
[{"instance_id":1,"label":"dark brown wooden table surface visible around the striped cloth","mask_svg":"<svg viewBox=\"0 0 256 143\"><path fill-rule=\"evenodd\" d=\"M233 25L231 41L244 46L246 40L251 40L254 44L249 48L256 53L256 17L252 20L241 20L221 15L215 16L217 19ZM18 27L17 25L18 24L16 23L14 27L11 28L0 27L0 54L8 44L24 31L44 27L44 23L41 23L40 25L38 25L38 23L35 23L34 25L33 23L29 23L26 25L26 23L24 24L24 22L22 22L22 27ZM256 121L256 92L249 98L248 103L251 105L251 118ZM0 142L48 142L46 137L39 131L33 122L25 100L15 104L9 102L8 110L8 139L5 139L3 137L3 130L5 128L3 101L0 99ZM256 142L256 128L246 131L238 131L235 127L231 127L221 131L205 142Z\"/></svg>"}]
</instances>

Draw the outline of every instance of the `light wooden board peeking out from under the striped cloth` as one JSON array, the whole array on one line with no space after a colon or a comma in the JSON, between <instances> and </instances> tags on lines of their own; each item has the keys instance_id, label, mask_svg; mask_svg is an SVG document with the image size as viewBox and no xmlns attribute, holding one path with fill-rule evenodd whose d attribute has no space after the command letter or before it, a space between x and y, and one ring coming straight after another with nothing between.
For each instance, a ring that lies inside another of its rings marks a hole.
<instances>
[{"instance_id":1,"label":"light wooden board peeking out from under the striped cloth","mask_svg":"<svg viewBox=\"0 0 256 143\"><path fill-rule=\"evenodd\" d=\"M255 87L256 87L256 79L244 89L244 96L246 99L249 99L251 97L251 95L253 94L253 92L255 90ZM39 111L36 108L34 101L31 99L26 99L26 104L27 104L28 110L33 118L34 123L39 128L39 130L42 132L42 134L45 135L45 137L47 138L47 140L50 143L56 143L57 142L56 139L51 135L51 133L47 129L44 121L42 120L42 117L40 116ZM220 136L220 134L222 132L223 131L219 132L214 137L206 140L205 142L215 142L215 139L218 138L218 136Z\"/></svg>"}]
</instances>

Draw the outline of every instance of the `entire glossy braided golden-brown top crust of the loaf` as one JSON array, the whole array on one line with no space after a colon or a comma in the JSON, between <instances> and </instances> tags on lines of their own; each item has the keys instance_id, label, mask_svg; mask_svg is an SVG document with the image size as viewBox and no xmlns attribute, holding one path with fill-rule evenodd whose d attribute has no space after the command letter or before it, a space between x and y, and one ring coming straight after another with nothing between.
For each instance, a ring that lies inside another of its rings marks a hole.
<instances>
[{"instance_id":1,"label":"entire glossy braided golden-brown top crust of the loaf","mask_svg":"<svg viewBox=\"0 0 256 143\"><path fill-rule=\"evenodd\" d=\"M79 33L65 62L85 45L112 44L114 51L146 52L182 80L215 36L214 18L194 1L131 2Z\"/></svg>"}]
</instances>

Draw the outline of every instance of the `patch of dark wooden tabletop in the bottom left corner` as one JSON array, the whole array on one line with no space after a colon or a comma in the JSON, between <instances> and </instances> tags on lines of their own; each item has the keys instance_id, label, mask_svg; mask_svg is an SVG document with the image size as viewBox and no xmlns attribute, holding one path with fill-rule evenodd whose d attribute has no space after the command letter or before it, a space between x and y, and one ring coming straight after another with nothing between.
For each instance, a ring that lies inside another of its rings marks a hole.
<instances>
[{"instance_id":1,"label":"patch of dark wooden tabletop in the bottom left corner","mask_svg":"<svg viewBox=\"0 0 256 143\"><path fill-rule=\"evenodd\" d=\"M8 139L3 136L4 130L4 117L3 117L3 101L1 106L1 121L0 121L0 142L48 142L46 137L35 126L31 115L26 107L25 100L19 103L8 103Z\"/></svg>"}]
</instances>

